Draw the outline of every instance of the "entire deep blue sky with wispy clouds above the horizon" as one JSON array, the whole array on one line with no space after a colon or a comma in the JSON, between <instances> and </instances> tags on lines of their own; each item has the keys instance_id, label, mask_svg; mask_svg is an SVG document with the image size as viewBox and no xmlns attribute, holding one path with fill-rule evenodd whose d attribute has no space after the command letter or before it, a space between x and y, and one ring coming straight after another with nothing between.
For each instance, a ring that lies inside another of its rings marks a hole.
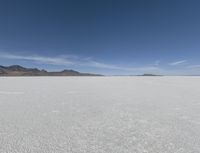
<instances>
[{"instance_id":1,"label":"entire deep blue sky with wispy clouds above the horizon","mask_svg":"<svg viewBox=\"0 0 200 153\"><path fill-rule=\"evenodd\" d=\"M198 0L1 0L0 65L200 74Z\"/></svg>"}]
</instances>

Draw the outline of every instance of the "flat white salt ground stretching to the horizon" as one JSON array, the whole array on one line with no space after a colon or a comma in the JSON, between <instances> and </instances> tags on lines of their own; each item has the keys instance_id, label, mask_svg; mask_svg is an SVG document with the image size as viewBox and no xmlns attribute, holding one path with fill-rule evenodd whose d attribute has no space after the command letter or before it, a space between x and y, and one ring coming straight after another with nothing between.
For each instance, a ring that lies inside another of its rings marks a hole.
<instances>
[{"instance_id":1,"label":"flat white salt ground stretching to the horizon","mask_svg":"<svg viewBox=\"0 0 200 153\"><path fill-rule=\"evenodd\" d=\"M200 153L200 77L1 77L1 153Z\"/></svg>"}]
</instances>

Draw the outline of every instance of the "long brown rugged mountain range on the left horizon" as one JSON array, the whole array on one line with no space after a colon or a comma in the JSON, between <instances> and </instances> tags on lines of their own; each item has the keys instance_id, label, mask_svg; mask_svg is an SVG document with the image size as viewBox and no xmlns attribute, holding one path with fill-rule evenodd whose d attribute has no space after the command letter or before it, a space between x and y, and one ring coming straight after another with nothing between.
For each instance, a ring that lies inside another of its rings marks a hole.
<instances>
[{"instance_id":1,"label":"long brown rugged mountain range on the left horizon","mask_svg":"<svg viewBox=\"0 0 200 153\"><path fill-rule=\"evenodd\" d=\"M0 76L101 76L99 74L81 73L74 70L48 72L37 68L25 68L20 65L0 66Z\"/></svg>"}]
</instances>

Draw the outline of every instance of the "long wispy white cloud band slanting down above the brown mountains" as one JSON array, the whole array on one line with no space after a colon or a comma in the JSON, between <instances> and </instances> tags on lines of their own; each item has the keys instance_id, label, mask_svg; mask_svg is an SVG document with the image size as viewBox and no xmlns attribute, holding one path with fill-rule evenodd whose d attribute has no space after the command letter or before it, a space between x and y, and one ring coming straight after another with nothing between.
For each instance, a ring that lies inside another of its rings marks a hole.
<instances>
[{"instance_id":1,"label":"long wispy white cloud band slanting down above the brown mountains","mask_svg":"<svg viewBox=\"0 0 200 153\"><path fill-rule=\"evenodd\" d=\"M16 55L8 53L0 53L0 58L11 59L11 60L27 60L36 63L43 63L49 65L60 65L60 66L80 66L80 67L93 67L99 69L110 69L110 70L119 70L127 71L131 73L150 73L150 72L159 72L160 68L158 67L159 61L156 62L156 66L143 66L143 67L124 67L114 64L107 64L93 60L90 57L80 58L74 55L60 55L56 57L47 57L39 55Z\"/></svg>"}]
</instances>

